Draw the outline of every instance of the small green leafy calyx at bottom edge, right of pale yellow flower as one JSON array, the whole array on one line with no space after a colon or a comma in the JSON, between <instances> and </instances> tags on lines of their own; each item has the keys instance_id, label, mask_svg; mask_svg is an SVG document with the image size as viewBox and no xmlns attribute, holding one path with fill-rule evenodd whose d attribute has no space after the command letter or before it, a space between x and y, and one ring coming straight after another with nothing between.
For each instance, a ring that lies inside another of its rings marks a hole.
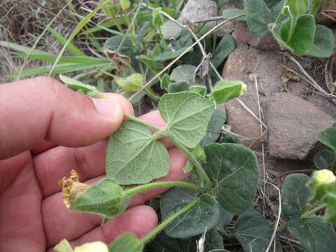
<instances>
[{"instance_id":1,"label":"small green leafy calyx at bottom edge, right of pale yellow flower","mask_svg":"<svg viewBox=\"0 0 336 252\"><path fill-rule=\"evenodd\" d=\"M109 246L109 252L141 252L144 245L132 233L125 233L117 237Z\"/></svg>"}]
</instances>

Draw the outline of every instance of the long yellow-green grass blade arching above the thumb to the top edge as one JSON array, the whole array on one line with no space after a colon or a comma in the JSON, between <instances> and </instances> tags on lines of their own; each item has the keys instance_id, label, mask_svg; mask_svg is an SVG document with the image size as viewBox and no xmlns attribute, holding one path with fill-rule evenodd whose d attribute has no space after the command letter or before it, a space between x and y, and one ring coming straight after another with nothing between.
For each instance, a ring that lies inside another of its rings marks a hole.
<instances>
[{"instance_id":1,"label":"long yellow-green grass blade arching above the thumb to the top edge","mask_svg":"<svg viewBox=\"0 0 336 252\"><path fill-rule=\"evenodd\" d=\"M66 41L66 43L63 45L63 48L61 49L61 51L59 52L54 64L52 65L52 68L49 71L48 76L51 76L53 71L55 70L55 67L57 66L59 59L61 59L61 57L63 56L66 47L69 43L71 43L71 41L73 40L73 38L79 33L79 31L87 24L87 22L89 22L91 20L91 18L99 11L103 8L103 6L108 3L110 0L104 0L102 1L102 3L99 4L99 6L97 6L96 8L94 8L94 10L92 10L89 14L87 14L85 16L85 18L83 18L83 20L81 20L78 25L76 26L76 28L72 31L70 37L68 38L68 40Z\"/></svg>"}]
</instances>

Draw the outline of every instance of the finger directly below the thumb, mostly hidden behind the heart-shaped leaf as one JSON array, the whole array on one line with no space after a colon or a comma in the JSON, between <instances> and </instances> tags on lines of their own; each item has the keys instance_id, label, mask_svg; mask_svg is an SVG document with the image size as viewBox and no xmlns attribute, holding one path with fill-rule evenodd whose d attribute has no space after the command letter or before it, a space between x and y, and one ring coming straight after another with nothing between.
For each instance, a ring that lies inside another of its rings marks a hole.
<instances>
[{"instance_id":1,"label":"finger directly below the thumb, mostly hidden behind the heart-shaped leaf","mask_svg":"<svg viewBox=\"0 0 336 252\"><path fill-rule=\"evenodd\" d=\"M165 125L158 111L153 111L141 117L155 125ZM174 145L169 140L162 140L166 148ZM107 141L104 140L92 146L81 148L64 148L58 146L36 155L34 169L44 197L59 192L57 181L69 176L72 169L78 172L81 181L93 179L105 174L105 155Z\"/></svg>"}]
</instances>

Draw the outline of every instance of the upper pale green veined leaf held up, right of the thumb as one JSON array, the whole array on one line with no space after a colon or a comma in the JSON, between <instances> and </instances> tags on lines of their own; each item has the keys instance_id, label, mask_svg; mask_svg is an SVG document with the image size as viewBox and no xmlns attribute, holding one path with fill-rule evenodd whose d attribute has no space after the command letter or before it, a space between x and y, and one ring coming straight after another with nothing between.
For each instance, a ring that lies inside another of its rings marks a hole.
<instances>
[{"instance_id":1,"label":"upper pale green veined leaf held up, right of the thumb","mask_svg":"<svg viewBox=\"0 0 336 252\"><path fill-rule=\"evenodd\" d=\"M167 135L188 148L195 148L205 136L214 103L194 92L165 94L158 109L167 122Z\"/></svg>"}]
</instances>

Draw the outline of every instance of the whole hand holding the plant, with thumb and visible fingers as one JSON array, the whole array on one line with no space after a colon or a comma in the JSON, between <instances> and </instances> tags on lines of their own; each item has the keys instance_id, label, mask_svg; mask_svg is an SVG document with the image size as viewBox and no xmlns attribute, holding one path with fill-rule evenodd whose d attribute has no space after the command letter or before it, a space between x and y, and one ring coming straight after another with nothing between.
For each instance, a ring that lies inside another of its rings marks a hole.
<instances>
[{"instance_id":1,"label":"whole hand holding the plant, with thumb and visible fingers","mask_svg":"<svg viewBox=\"0 0 336 252\"><path fill-rule=\"evenodd\" d=\"M118 94L90 99L51 78L0 85L0 251L53 251L68 239L72 246L90 241L111 243L124 232L137 237L158 225L144 202L167 188L132 198L120 216L101 226L99 216L69 211L57 181L75 169L84 183L104 177L107 137L134 115ZM158 111L141 117L165 125ZM159 181L185 179L186 156L167 139L171 169Z\"/></svg>"}]
</instances>

